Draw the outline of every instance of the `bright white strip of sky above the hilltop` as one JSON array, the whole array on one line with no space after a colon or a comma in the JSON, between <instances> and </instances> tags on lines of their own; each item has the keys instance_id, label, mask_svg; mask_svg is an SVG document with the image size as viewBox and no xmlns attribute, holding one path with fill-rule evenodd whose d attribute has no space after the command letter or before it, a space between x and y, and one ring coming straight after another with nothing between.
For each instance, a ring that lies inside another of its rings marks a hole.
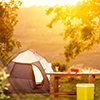
<instances>
[{"instance_id":1,"label":"bright white strip of sky above the hilltop","mask_svg":"<svg viewBox=\"0 0 100 100\"><path fill-rule=\"evenodd\" d=\"M20 0L23 2L22 7L30 7L32 5L49 5L54 6L55 4L58 5L65 5L65 4L76 4L77 1L83 1L83 0Z\"/></svg>"}]
</instances>

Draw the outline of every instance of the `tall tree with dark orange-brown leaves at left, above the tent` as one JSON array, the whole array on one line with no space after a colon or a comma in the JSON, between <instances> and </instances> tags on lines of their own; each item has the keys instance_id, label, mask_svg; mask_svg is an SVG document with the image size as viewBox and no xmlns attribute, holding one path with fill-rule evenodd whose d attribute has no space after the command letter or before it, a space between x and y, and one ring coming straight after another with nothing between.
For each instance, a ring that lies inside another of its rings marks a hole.
<instances>
[{"instance_id":1,"label":"tall tree with dark orange-brown leaves at left, above the tent","mask_svg":"<svg viewBox=\"0 0 100 100\"><path fill-rule=\"evenodd\" d=\"M16 11L19 6L19 0L0 1L0 57L6 61L11 57L10 53L15 47L21 47L21 43L13 38L14 26L18 22Z\"/></svg>"}]
</instances>

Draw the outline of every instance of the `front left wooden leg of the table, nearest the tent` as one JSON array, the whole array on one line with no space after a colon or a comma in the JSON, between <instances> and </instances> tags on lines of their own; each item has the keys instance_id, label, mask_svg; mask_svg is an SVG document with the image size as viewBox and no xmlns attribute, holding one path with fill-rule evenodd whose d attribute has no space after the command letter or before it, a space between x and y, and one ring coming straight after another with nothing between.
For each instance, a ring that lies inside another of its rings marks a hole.
<instances>
[{"instance_id":1,"label":"front left wooden leg of the table, nearest the tent","mask_svg":"<svg viewBox=\"0 0 100 100\"><path fill-rule=\"evenodd\" d=\"M50 75L50 97L55 97L55 76Z\"/></svg>"}]
</instances>

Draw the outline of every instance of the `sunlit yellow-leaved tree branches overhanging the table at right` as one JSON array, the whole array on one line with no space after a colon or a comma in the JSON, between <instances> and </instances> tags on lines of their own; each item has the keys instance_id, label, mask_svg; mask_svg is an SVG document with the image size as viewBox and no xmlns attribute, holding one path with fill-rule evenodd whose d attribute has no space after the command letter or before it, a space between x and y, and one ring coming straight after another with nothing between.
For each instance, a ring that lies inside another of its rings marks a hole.
<instances>
[{"instance_id":1,"label":"sunlit yellow-leaved tree branches overhanging the table at right","mask_svg":"<svg viewBox=\"0 0 100 100\"><path fill-rule=\"evenodd\" d=\"M83 0L73 6L56 5L46 11L47 15L55 13L55 17L47 25L48 27L52 28L60 20L64 25L61 35L67 41L64 47L67 62L100 42L99 9L99 0Z\"/></svg>"}]
</instances>

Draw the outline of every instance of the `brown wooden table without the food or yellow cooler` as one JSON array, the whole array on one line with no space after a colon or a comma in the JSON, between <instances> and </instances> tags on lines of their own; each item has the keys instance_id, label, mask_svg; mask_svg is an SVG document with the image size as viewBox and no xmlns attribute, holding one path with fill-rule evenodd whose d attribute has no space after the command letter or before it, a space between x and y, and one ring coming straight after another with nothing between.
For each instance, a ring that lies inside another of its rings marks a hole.
<instances>
[{"instance_id":1,"label":"brown wooden table without the food or yellow cooler","mask_svg":"<svg viewBox=\"0 0 100 100\"><path fill-rule=\"evenodd\" d=\"M67 76L81 76L88 77L89 83L95 84L95 76L100 75L100 73L67 73L67 72L53 72L46 73L46 75L50 75L50 97L54 98L57 95L74 95L76 92L59 92L59 78L67 77Z\"/></svg>"}]
</instances>

